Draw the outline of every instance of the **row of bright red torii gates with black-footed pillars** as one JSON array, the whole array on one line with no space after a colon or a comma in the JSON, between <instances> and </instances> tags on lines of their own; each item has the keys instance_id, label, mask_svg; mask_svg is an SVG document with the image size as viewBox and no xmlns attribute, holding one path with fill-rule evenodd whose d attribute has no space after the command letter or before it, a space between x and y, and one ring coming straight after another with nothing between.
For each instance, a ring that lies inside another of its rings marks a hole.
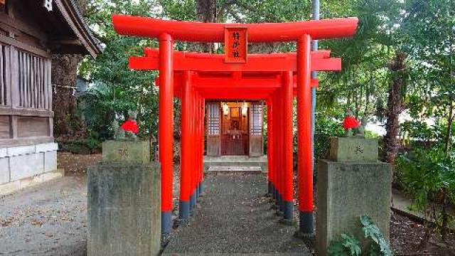
<instances>
[{"instance_id":1,"label":"row of bright red torii gates with black-footed pillars","mask_svg":"<svg viewBox=\"0 0 455 256\"><path fill-rule=\"evenodd\" d=\"M225 55L173 50L173 41L226 42L228 23L165 21L114 15L117 33L158 38L159 49L129 58L136 70L159 70L159 161L161 163L161 230L171 231L173 210L173 97L181 98L181 177L179 218L187 220L202 191L205 100L265 100L269 193L284 220L294 210L292 102L297 97L299 233L313 225L313 152L311 139L312 71L341 70L329 50L311 51L311 40L353 36L357 18L291 23L242 23L248 42L296 41L296 53L250 54L228 61ZM237 35L238 36L238 35ZM246 39L246 38L245 38ZM245 42L242 42L245 43ZM245 43L246 44L246 43ZM237 46L238 43L235 43ZM225 45L225 48L228 48ZM242 50L242 49L240 49ZM232 53L232 49L230 50ZM238 57L235 53L233 57ZM246 58L247 57L247 58Z\"/></svg>"}]
</instances>

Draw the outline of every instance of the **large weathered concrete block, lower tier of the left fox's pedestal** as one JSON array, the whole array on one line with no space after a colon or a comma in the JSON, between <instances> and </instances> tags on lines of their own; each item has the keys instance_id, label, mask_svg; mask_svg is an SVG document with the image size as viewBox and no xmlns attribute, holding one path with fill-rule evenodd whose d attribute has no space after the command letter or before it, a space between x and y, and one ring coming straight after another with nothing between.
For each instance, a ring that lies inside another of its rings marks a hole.
<instances>
[{"instance_id":1,"label":"large weathered concrete block, lower tier of the left fox's pedestal","mask_svg":"<svg viewBox=\"0 0 455 256\"><path fill-rule=\"evenodd\" d=\"M87 172L87 255L159 255L159 164L99 164Z\"/></svg>"}]
</instances>

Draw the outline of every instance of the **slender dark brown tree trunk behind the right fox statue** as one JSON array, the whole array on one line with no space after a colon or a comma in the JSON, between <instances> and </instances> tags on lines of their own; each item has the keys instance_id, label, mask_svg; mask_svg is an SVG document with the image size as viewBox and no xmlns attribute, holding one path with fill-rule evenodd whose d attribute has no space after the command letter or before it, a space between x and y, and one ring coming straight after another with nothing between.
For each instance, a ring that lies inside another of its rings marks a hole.
<instances>
[{"instance_id":1,"label":"slender dark brown tree trunk behind the right fox statue","mask_svg":"<svg viewBox=\"0 0 455 256\"><path fill-rule=\"evenodd\" d=\"M390 63L390 72L392 73L392 85L389 88L387 99L387 122L385 123L386 134L384 137L385 161L390 164L395 163L397 151L400 142L397 135L400 132L399 117L402 112L402 71L405 70L406 55L400 51L395 53L395 58Z\"/></svg>"}]
</instances>

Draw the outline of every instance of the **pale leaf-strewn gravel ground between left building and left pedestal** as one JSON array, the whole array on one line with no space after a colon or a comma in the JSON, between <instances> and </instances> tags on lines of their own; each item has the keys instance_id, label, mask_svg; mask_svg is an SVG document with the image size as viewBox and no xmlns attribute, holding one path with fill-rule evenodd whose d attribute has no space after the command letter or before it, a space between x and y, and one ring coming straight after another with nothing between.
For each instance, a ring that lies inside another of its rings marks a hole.
<instances>
[{"instance_id":1,"label":"pale leaf-strewn gravel ground between left building and left pedestal","mask_svg":"<svg viewBox=\"0 0 455 256\"><path fill-rule=\"evenodd\" d=\"M85 176L0 198L0 255L86 255Z\"/></svg>"}]
</instances>

